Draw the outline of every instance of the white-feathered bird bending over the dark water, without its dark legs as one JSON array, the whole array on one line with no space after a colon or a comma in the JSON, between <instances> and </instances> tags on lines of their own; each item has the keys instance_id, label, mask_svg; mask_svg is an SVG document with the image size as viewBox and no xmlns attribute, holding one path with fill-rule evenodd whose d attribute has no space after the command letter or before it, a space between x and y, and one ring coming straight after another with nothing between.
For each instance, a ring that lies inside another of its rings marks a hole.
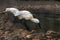
<instances>
[{"instance_id":1,"label":"white-feathered bird bending over the dark water, without its dark legs","mask_svg":"<svg viewBox=\"0 0 60 40\"><path fill-rule=\"evenodd\" d=\"M31 12L29 11L19 11L17 8L6 8L5 11L12 12L14 16L17 16L19 19L31 20L32 22L39 23L39 20L37 18L34 18Z\"/></svg>"}]
</instances>

